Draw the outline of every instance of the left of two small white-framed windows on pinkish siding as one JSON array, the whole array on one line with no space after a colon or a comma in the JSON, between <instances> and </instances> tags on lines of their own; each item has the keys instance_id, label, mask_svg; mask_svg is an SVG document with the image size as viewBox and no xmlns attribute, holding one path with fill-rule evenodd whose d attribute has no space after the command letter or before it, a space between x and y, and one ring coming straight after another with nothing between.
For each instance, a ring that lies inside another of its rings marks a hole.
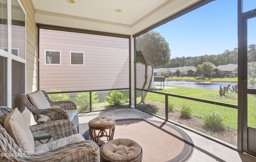
<instances>
[{"instance_id":1,"label":"left of two small white-framed windows on pinkish siding","mask_svg":"<svg viewBox=\"0 0 256 162\"><path fill-rule=\"evenodd\" d=\"M61 51L45 50L45 64L61 65Z\"/></svg>"}]
</instances>

